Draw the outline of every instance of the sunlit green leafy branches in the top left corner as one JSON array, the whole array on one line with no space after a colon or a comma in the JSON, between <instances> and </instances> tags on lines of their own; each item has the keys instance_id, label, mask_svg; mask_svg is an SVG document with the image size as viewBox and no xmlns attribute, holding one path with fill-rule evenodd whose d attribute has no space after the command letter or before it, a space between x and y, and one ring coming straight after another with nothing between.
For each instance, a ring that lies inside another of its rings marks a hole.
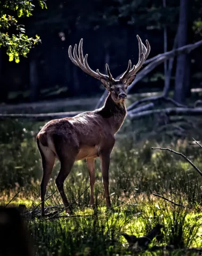
<instances>
[{"instance_id":1,"label":"sunlit green leafy branches in the top left corner","mask_svg":"<svg viewBox=\"0 0 202 256\"><path fill-rule=\"evenodd\" d=\"M43 0L38 0L41 8L46 8ZM9 60L20 61L20 55L27 57L32 45L39 43L40 38L26 35L23 25L18 24L19 18L30 17L35 5L31 0L6 0L0 3L0 47L6 47Z\"/></svg>"}]
</instances>

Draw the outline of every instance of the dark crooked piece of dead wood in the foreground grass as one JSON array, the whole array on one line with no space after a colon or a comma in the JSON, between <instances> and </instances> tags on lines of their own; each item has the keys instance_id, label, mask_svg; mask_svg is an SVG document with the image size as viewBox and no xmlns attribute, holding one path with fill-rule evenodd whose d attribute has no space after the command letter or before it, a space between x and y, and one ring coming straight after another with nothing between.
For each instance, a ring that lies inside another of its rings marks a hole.
<instances>
[{"instance_id":1,"label":"dark crooked piece of dead wood in the foreground grass","mask_svg":"<svg viewBox=\"0 0 202 256\"><path fill-rule=\"evenodd\" d=\"M133 247L134 245L139 247L147 247L150 242L153 241L153 239L156 237L157 239L161 236L161 228L163 228L163 225L158 223L156 226L149 231L149 233L145 236L133 236L123 233L122 236L125 237L127 242L129 243L129 249ZM159 240L159 239L158 239Z\"/></svg>"}]
</instances>

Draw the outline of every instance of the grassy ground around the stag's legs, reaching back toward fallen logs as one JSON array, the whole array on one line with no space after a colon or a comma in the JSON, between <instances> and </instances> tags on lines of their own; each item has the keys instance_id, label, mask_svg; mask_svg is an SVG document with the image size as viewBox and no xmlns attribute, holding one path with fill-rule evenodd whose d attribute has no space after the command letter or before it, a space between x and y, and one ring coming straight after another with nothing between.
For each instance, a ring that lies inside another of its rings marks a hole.
<instances>
[{"instance_id":1,"label":"grassy ground around the stag's legs, reaching back toward fallen logs","mask_svg":"<svg viewBox=\"0 0 202 256\"><path fill-rule=\"evenodd\" d=\"M201 138L201 123L187 130L184 137L174 137L168 129L158 132L156 119L125 121L117 134L111 156L110 193L112 210L106 210L99 159L96 160L96 210L88 207L89 181L85 161L74 164L65 182L74 215L45 220L27 218L35 255L199 255L189 250L201 247L202 178L182 157L151 147L168 147L188 156L202 170L202 150L191 137ZM194 118L189 121L196 124ZM6 205L26 204L32 211L40 204L41 160L35 135L44 123L0 122L0 199ZM170 133L169 133L170 132ZM56 190L56 162L46 197ZM159 194L184 207L175 206L153 195ZM56 192L46 207L62 206ZM58 208L59 209L59 208ZM49 208L47 214L58 210ZM40 205L37 207L40 210ZM38 212L40 215L40 211ZM62 211L57 216L65 215ZM132 251L122 233L146 235L156 223L162 223L162 239L155 239L146 251ZM152 252L154 245L173 245L171 251Z\"/></svg>"}]
</instances>

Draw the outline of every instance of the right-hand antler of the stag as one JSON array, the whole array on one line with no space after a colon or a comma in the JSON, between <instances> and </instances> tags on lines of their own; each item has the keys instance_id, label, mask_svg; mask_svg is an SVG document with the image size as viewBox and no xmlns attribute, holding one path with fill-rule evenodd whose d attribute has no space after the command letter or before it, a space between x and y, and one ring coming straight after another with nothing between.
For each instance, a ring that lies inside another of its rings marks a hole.
<instances>
[{"instance_id":1,"label":"right-hand antler of the stag","mask_svg":"<svg viewBox=\"0 0 202 256\"><path fill-rule=\"evenodd\" d=\"M120 80L122 80L123 82L125 82L125 80L127 80L129 77L135 75L138 70L142 67L143 63L145 62L145 60L147 59L149 52L150 52L150 45L148 40L146 40L146 45L147 47L142 43L140 37L137 35L138 38L138 43L139 43L139 60L137 65L133 66L133 68L131 69L131 60L129 60L128 63L128 68L125 71L125 73L119 78Z\"/></svg>"}]
</instances>

